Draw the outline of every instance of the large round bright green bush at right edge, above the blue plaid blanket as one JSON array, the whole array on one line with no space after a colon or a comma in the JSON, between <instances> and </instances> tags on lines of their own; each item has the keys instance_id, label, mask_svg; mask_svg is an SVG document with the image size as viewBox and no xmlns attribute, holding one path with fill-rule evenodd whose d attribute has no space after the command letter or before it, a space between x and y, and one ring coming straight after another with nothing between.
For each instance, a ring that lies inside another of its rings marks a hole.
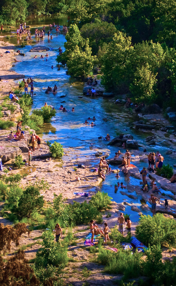
<instances>
[{"instance_id":1,"label":"large round bright green bush at right edge, above the blue plaid blanket","mask_svg":"<svg viewBox=\"0 0 176 286\"><path fill-rule=\"evenodd\" d=\"M142 215L139 224L136 226L136 237L146 246L176 243L176 221L166 218L161 213Z\"/></svg>"}]
</instances>

